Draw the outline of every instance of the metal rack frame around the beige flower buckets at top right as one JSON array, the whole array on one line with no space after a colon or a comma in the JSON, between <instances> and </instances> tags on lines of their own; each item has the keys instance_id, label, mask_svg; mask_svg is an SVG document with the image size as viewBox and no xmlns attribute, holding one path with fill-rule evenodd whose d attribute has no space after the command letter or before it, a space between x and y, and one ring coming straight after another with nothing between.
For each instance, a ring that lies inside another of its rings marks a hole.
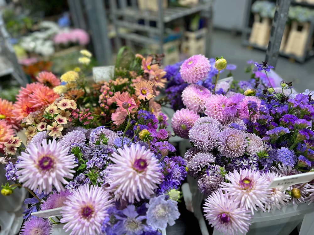
<instances>
[{"instance_id":1,"label":"metal rack frame around the beige flower buckets at top right","mask_svg":"<svg viewBox=\"0 0 314 235\"><path fill-rule=\"evenodd\" d=\"M245 46L252 46L253 48L259 49L259 50L267 50L268 47L263 47L257 44L253 44L250 43L248 38L250 37L252 28L250 26L250 20L251 18L251 6L252 3L254 2L254 0L248 0L248 4L247 4L247 9L246 9L246 20L245 20L245 25L243 27L243 31L242 31L242 44ZM290 5L290 0L289 1L283 1L284 4L289 4ZM300 5L303 7L309 7L309 8L313 8L314 9L314 5L313 4L309 4L309 3L302 3L302 2L295 2L295 1L291 1L291 5L296 6L296 5ZM302 57L296 56L294 54L287 54L284 53L283 51L279 51L279 55L284 56L284 57L288 57L290 59L294 59L300 63L303 63L305 60L311 58L314 56L314 49L308 51L309 48L309 44L311 42L311 37L314 34L314 18L311 21L311 26L310 26L310 30L309 30L309 36L307 38L306 41L306 46L305 46L305 51L304 51L304 55ZM280 44L279 44L280 46Z\"/></svg>"}]
</instances>

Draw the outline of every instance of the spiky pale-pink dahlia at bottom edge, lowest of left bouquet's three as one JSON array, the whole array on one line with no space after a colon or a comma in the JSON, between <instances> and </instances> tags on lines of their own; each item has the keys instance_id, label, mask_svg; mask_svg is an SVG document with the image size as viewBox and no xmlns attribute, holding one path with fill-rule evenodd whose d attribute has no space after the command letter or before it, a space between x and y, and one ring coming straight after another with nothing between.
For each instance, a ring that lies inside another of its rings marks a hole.
<instances>
[{"instance_id":1,"label":"spiky pale-pink dahlia at bottom edge, lowest of left bouquet's three","mask_svg":"<svg viewBox=\"0 0 314 235\"><path fill-rule=\"evenodd\" d=\"M102 187L85 184L80 186L62 206L61 223L70 235L101 234L101 226L109 215L113 200Z\"/></svg>"}]
</instances>

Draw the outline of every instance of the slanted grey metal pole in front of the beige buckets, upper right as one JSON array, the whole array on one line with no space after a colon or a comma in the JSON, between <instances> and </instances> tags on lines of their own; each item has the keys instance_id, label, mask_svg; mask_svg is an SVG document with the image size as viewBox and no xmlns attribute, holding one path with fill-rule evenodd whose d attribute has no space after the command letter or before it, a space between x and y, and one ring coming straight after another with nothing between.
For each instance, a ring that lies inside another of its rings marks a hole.
<instances>
[{"instance_id":1,"label":"slanted grey metal pole in front of the beige buckets, upper right","mask_svg":"<svg viewBox=\"0 0 314 235\"><path fill-rule=\"evenodd\" d=\"M265 61L276 68L279 48L286 26L291 0L277 0Z\"/></svg>"}]
</instances>

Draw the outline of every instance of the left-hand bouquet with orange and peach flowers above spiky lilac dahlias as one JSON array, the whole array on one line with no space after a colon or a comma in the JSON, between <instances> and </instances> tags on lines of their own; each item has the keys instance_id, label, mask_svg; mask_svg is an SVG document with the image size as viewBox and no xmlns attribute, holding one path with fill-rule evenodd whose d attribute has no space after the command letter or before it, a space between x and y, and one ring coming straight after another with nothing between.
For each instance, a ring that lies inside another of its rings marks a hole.
<instances>
[{"instance_id":1,"label":"left-hand bouquet with orange and peach flowers above spiky lilac dahlias","mask_svg":"<svg viewBox=\"0 0 314 235\"><path fill-rule=\"evenodd\" d=\"M81 55L82 66L60 79L43 71L14 104L0 100L1 161L14 182L1 193L32 195L20 234L51 234L53 224L70 234L160 234L180 215L187 175L154 101L166 81L161 57L122 49L112 80L89 86L91 54ZM13 128L25 128L25 148ZM57 217L32 215L55 208Z\"/></svg>"}]
</instances>

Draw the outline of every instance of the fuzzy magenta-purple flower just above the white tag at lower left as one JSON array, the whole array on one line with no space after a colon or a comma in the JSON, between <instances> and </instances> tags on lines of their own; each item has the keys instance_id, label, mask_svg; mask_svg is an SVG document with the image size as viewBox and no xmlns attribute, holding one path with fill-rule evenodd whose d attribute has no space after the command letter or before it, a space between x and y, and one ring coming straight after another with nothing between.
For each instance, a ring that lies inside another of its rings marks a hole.
<instances>
[{"instance_id":1,"label":"fuzzy magenta-purple flower just above the white tag at lower left","mask_svg":"<svg viewBox=\"0 0 314 235\"><path fill-rule=\"evenodd\" d=\"M68 196L72 195L72 192L69 190L61 191L60 194L56 191L52 191L51 194L46 198L46 201L42 201L42 204L40 205L40 210L49 210L54 209L58 207L62 207L64 205L64 202L67 200Z\"/></svg>"}]
</instances>

